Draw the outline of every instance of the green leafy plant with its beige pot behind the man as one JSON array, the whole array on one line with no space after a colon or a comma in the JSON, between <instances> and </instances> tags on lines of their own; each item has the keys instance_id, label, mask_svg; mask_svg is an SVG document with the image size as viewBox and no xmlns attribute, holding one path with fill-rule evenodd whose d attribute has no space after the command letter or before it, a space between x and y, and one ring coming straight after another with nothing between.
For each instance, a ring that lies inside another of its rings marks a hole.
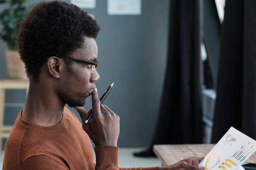
<instances>
[{"instance_id":1,"label":"green leafy plant with its beige pot behind the man","mask_svg":"<svg viewBox=\"0 0 256 170\"><path fill-rule=\"evenodd\" d=\"M10 78L26 79L25 66L17 52L16 35L19 22L27 13L27 0L0 0L0 5L7 8L0 13L0 38L7 43L5 51L8 75Z\"/></svg>"}]
</instances>

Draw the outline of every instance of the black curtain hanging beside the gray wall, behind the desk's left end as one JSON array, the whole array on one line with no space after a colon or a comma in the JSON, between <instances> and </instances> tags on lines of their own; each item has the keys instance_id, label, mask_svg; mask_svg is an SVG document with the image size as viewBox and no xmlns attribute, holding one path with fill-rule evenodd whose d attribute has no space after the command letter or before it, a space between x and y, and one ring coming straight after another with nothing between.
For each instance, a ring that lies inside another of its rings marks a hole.
<instances>
[{"instance_id":1,"label":"black curtain hanging beside the gray wall, behind the desk's left end","mask_svg":"<svg viewBox=\"0 0 256 170\"><path fill-rule=\"evenodd\" d=\"M168 62L154 144L202 143L201 0L171 0Z\"/></svg>"}]
</instances>

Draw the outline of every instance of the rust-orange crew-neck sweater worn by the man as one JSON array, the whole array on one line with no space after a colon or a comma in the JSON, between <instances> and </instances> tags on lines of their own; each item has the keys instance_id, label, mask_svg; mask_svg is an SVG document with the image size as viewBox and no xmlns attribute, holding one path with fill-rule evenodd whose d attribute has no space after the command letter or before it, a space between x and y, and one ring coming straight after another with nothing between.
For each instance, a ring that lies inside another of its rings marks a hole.
<instances>
[{"instance_id":1,"label":"rust-orange crew-neck sweater worn by the man","mask_svg":"<svg viewBox=\"0 0 256 170\"><path fill-rule=\"evenodd\" d=\"M119 148L93 148L79 119L66 107L62 121L43 127L24 121L19 113L7 139L3 170L158 170L118 168Z\"/></svg>"}]
</instances>

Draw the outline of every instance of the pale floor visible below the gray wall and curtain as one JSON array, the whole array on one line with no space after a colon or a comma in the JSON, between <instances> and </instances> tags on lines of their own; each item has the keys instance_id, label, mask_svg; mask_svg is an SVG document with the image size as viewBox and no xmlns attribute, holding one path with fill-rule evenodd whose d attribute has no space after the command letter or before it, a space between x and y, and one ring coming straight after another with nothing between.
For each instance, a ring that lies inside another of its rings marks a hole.
<instances>
[{"instance_id":1,"label":"pale floor visible below the gray wall and curtain","mask_svg":"<svg viewBox=\"0 0 256 170\"><path fill-rule=\"evenodd\" d=\"M161 166L161 161L157 157L134 157L134 152L139 152L143 148L120 148L119 151L119 167L153 167ZM0 154L0 170L2 170L2 162L4 159L4 152ZM94 159L95 160L95 159Z\"/></svg>"}]
</instances>

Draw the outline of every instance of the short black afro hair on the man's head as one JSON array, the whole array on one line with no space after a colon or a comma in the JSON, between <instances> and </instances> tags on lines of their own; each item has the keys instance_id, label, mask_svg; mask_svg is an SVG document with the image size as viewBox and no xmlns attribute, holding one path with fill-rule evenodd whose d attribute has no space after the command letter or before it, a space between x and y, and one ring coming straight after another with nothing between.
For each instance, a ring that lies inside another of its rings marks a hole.
<instances>
[{"instance_id":1,"label":"short black afro hair on the man's head","mask_svg":"<svg viewBox=\"0 0 256 170\"><path fill-rule=\"evenodd\" d=\"M50 56L65 56L81 48L84 37L97 38L100 26L86 11L59 0L36 4L20 22L18 52L27 77L38 78Z\"/></svg>"}]
</instances>

